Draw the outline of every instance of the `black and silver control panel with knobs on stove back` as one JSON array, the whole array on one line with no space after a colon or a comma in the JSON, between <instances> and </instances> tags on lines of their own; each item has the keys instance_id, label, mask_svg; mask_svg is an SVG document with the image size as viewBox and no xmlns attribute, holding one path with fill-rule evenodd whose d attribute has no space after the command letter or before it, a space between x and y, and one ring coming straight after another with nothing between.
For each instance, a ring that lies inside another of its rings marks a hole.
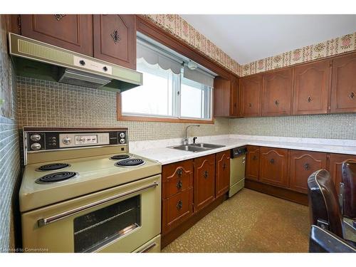
<instances>
[{"instance_id":1,"label":"black and silver control panel with knobs on stove back","mask_svg":"<svg viewBox=\"0 0 356 267\"><path fill-rule=\"evenodd\" d=\"M127 130L108 131L28 131L24 130L26 150L61 150L76 147L127 145Z\"/></svg>"}]
</instances>

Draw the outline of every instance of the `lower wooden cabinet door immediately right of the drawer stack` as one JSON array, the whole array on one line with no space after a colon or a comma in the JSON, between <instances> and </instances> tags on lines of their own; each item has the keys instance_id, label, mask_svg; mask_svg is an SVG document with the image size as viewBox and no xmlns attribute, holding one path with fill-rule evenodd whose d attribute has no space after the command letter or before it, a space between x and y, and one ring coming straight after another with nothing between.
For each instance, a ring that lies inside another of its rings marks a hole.
<instances>
[{"instance_id":1,"label":"lower wooden cabinet door immediately right of the drawer stack","mask_svg":"<svg viewBox=\"0 0 356 267\"><path fill-rule=\"evenodd\" d=\"M194 207L204 208L215 199L215 155L194 159Z\"/></svg>"}]
</instances>

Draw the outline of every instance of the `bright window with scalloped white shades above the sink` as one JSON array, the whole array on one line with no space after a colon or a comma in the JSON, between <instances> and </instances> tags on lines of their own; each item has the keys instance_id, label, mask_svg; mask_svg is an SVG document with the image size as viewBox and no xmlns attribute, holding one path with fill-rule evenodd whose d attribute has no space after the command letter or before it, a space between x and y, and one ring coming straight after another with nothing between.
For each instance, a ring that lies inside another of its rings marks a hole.
<instances>
[{"instance_id":1,"label":"bright window with scalloped white shades above the sink","mask_svg":"<svg viewBox=\"0 0 356 267\"><path fill-rule=\"evenodd\" d=\"M137 39L137 70L143 74L143 85L120 94L122 118L211 122L214 75L197 64L188 68L187 58L167 49Z\"/></svg>"}]
</instances>

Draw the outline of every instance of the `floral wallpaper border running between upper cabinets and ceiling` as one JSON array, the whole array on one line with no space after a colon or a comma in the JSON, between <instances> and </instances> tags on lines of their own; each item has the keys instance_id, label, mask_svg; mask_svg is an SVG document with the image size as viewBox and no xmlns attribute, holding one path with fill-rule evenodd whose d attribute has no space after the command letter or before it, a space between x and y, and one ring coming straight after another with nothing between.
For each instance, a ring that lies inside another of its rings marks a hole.
<instances>
[{"instance_id":1,"label":"floral wallpaper border running between upper cabinets and ceiling","mask_svg":"<svg viewBox=\"0 0 356 267\"><path fill-rule=\"evenodd\" d=\"M355 32L241 66L181 16L174 14L146 14L143 16L240 77L356 50Z\"/></svg>"}]
</instances>

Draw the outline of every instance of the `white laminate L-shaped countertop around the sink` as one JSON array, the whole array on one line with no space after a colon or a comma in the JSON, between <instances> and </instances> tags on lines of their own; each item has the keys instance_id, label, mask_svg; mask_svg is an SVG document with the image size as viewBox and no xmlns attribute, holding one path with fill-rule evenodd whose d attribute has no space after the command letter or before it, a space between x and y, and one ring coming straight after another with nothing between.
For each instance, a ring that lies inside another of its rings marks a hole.
<instances>
[{"instance_id":1,"label":"white laminate L-shaped countertop around the sink","mask_svg":"<svg viewBox=\"0 0 356 267\"><path fill-rule=\"evenodd\" d=\"M173 145L182 145L182 139L176 138L169 140L130 142L130 152L142 157L155 159L161 162L162 165L179 162L185 159L211 155L244 145L258 145L262 147L280 147L291 150L309 150L315 152L356 155L356 140L266 137L257 135L214 135L210 137L198 137L197 142L224 145L224 147L206 150L203 152L188 152L169 148ZM189 139L189 143L192 143L191 139Z\"/></svg>"}]
</instances>

